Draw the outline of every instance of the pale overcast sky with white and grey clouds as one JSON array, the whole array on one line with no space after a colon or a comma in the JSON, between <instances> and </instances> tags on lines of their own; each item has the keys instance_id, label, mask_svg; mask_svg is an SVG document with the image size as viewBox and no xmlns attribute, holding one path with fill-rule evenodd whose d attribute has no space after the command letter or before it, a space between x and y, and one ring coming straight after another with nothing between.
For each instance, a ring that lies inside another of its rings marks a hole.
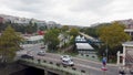
<instances>
[{"instance_id":1,"label":"pale overcast sky with white and grey clouds","mask_svg":"<svg viewBox=\"0 0 133 75\"><path fill-rule=\"evenodd\" d=\"M132 19L133 0L0 0L0 14L90 26Z\"/></svg>"}]
</instances>

